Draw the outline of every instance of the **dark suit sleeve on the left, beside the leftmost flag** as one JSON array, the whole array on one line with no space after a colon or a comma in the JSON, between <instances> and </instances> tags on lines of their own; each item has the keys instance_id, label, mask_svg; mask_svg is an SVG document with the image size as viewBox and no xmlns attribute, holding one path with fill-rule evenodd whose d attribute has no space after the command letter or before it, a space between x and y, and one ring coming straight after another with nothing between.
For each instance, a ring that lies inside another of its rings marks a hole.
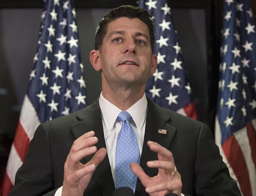
<instances>
[{"instance_id":1,"label":"dark suit sleeve on the left, beside the leftmost flag","mask_svg":"<svg viewBox=\"0 0 256 196\"><path fill-rule=\"evenodd\" d=\"M15 176L15 184L9 196L54 195L52 155L45 124L36 129L23 165Z\"/></svg>"}]
</instances>

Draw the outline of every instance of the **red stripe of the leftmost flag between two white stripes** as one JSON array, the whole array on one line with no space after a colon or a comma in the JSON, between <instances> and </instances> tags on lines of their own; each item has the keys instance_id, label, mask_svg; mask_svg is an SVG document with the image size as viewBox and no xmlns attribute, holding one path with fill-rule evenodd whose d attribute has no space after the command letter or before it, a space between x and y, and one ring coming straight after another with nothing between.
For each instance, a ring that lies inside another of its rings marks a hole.
<instances>
[{"instance_id":1,"label":"red stripe of the leftmost flag between two white stripes","mask_svg":"<svg viewBox=\"0 0 256 196\"><path fill-rule=\"evenodd\" d=\"M28 136L19 121L16 133L14 136L14 146L22 162L24 161L24 158L28 153L29 145L30 145L30 141L28 139Z\"/></svg>"}]
</instances>

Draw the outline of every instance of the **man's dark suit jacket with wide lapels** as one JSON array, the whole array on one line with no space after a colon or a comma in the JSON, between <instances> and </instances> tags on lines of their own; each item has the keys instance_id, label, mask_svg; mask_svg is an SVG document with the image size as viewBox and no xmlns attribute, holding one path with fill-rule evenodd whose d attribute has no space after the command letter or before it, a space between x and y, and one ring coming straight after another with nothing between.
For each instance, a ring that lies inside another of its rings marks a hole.
<instances>
[{"instance_id":1,"label":"man's dark suit jacket with wide lapels","mask_svg":"<svg viewBox=\"0 0 256 196\"><path fill-rule=\"evenodd\" d=\"M158 133L158 129L167 134ZM31 140L24 164L18 170L11 195L54 195L62 186L64 163L75 139L94 130L97 148L106 148L99 100L76 113L42 123ZM215 145L209 127L201 122L157 106L148 99L148 113L140 166L149 176L157 169L149 169L147 161L157 160L147 141L155 141L173 153L181 175L182 193L188 195L240 195L236 182L229 176ZM91 156L81 162L90 161ZM92 175L86 196L111 196L115 190L108 155ZM145 187L137 181L136 196L146 196Z\"/></svg>"}]
</instances>

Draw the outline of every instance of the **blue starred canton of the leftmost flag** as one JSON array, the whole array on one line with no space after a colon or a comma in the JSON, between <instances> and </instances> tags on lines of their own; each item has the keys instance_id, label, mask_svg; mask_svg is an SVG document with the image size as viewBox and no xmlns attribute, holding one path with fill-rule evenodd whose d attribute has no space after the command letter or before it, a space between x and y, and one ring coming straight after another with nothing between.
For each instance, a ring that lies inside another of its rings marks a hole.
<instances>
[{"instance_id":1,"label":"blue starred canton of the leftmost flag","mask_svg":"<svg viewBox=\"0 0 256 196\"><path fill-rule=\"evenodd\" d=\"M28 98L41 122L87 106L73 0L46 0Z\"/></svg>"}]
</instances>

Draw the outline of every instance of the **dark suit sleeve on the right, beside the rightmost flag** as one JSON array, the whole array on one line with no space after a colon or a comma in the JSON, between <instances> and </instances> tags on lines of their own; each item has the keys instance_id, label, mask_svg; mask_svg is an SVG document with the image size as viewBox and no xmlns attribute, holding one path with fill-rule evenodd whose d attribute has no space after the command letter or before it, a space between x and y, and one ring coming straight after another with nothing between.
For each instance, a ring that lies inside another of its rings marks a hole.
<instances>
[{"instance_id":1,"label":"dark suit sleeve on the right, beside the rightmost flag","mask_svg":"<svg viewBox=\"0 0 256 196\"><path fill-rule=\"evenodd\" d=\"M206 124L202 124L198 137L194 178L197 195L241 195Z\"/></svg>"}]
</instances>

